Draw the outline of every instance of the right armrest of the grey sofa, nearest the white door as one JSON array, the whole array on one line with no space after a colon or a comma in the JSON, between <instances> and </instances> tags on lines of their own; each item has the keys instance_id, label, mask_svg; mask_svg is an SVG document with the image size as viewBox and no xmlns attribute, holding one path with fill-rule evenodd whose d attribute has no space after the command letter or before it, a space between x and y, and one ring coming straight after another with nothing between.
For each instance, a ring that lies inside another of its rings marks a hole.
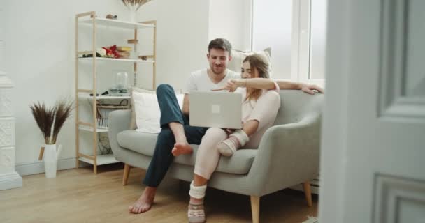
<instances>
[{"instance_id":1,"label":"right armrest of the grey sofa, nearest the white door","mask_svg":"<svg viewBox=\"0 0 425 223\"><path fill-rule=\"evenodd\" d=\"M275 125L261 138L248 178L262 196L311 180L319 174L320 115Z\"/></svg>"}]
</instances>

